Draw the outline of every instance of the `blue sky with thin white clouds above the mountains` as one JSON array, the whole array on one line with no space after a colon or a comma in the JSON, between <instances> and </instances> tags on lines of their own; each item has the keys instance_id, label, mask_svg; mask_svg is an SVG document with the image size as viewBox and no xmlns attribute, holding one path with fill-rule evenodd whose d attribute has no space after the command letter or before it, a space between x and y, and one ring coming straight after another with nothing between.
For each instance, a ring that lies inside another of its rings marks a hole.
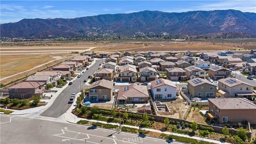
<instances>
[{"instance_id":1,"label":"blue sky with thin white clouds above the mountains","mask_svg":"<svg viewBox=\"0 0 256 144\"><path fill-rule=\"evenodd\" d=\"M0 23L34 18L76 18L139 11L240 10L256 13L256 1L0 1Z\"/></svg>"}]
</instances>

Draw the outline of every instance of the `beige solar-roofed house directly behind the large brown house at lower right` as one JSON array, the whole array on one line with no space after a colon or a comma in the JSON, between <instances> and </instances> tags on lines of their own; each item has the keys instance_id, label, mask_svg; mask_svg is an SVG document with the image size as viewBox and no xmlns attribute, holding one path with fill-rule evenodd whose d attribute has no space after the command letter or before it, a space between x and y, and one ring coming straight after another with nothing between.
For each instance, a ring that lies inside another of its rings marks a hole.
<instances>
[{"instance_id":1,"label":"beige solar-roofed house directly behind the large brown house at lower right","mask_svg":"<svg viewBox=\"0 0 256 144\"><path fill-rule=\"evenodd\" d=\"M252 99L252 96L256 95L253 85L231 77L219 79L218 89L226 92L229 97Z\"/></svg>"}]
</instances>

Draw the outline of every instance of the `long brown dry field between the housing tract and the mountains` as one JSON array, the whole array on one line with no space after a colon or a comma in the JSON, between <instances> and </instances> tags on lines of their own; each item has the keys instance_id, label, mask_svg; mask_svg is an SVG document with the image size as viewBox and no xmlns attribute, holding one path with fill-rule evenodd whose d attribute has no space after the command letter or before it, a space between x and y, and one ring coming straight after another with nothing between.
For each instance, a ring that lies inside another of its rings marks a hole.
<instances>
[{"instance_id":1,"label":"long brown dry field between the housing tract and the mountains","mask_svg":"<svg viewBox=\"0 0 256 144\"><path fill-rule=\"evenodd\" d=\"M252 45L255 45L252 43ZM97 47L94 51L215 51L243 50L243 45L233 43L210 42L145 42L145 43L109 43Z\"/></svg>"}]
</instances>

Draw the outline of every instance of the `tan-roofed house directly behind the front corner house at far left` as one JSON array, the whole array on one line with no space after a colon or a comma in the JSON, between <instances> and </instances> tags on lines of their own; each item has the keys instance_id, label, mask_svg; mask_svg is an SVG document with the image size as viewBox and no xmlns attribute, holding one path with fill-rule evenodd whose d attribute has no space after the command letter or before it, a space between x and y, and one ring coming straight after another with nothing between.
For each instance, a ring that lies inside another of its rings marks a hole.
<instances>
[{"instance_id":1,"label":"tan-roofed house directly behind the front corner house at far left","mask_svg":"<svg viewBox=\"0 0 256 144\"><path fill-rule=\"evenodd\" d=\"M57 85L57 81L54 81L52 76L49 75L45 75L45 76L38 76L38 75L34 75L34 76L29 76L26 79L27 82L42 82L44 84L50 84L52 83L54 86Z\"/></svg>"}]
</instances>

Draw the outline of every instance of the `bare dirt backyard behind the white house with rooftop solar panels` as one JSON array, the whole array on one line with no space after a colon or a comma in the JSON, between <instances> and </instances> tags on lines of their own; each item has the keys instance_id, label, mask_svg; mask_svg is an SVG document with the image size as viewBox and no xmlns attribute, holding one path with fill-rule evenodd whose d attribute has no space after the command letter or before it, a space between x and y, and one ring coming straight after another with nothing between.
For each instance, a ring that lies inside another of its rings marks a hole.
<instances>
[{"instance_id":1,"label":"bare dirt backyard behind the white house with rooftop solar panels","mask_svg":"<svg viewBox=\"0 0 256 144\"><path fill-rule=\"evenodd\" d=\"M181 97L178 97L174 101L161 101L161 102L163 104L166 104L170 110L170 112L167 114L158 113L161 116L172 117L172 118L182 118L182 116L188 109L188 105L185 104L185 100L182 99Z\"/></svg>"}]
</instances>

